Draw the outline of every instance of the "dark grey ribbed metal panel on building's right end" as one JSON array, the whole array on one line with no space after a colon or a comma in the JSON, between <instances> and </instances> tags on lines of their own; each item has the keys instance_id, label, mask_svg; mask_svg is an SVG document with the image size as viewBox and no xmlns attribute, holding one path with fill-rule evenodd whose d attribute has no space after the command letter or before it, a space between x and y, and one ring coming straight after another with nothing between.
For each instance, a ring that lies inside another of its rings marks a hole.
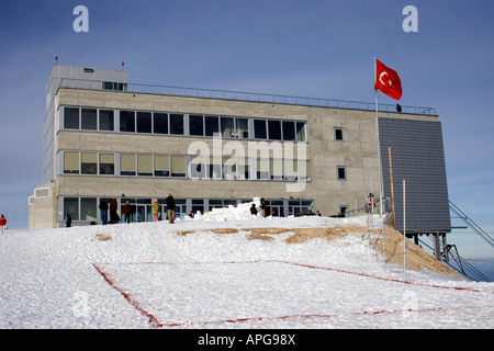
<instances>
[{"instance_id":1,"label":"dark grey ribbed metal panel on building's right end","mask_svg":"<svg viewBox=\"0 0 494 351\"><path fill-rule=\"evenodd\" d=\"M379 118L379 133L384 196L390 199L391 147L396 229L403 230L405 179L406 231L451 231L440 122Z\"/></svg>"}]
</instances>

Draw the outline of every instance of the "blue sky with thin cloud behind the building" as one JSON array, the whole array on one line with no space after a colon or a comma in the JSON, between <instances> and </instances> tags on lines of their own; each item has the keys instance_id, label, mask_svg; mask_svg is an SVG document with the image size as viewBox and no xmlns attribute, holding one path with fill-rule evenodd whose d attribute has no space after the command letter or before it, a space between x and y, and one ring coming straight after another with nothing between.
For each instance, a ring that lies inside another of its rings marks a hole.
<instances>
[{"instance_id":1,"label":"blue sky with thin cloud behind the building","mask_svg":"<svg viewBox=\"0 0 494 351\"><path fill-rule=\"evenodd\" d=\"M72 30L79 4L88 33ZM408 4L417 33L402 30ZM437 109L450 200L494 233L493 16L492 1L2 1L0 212L12 228L27 226L55 56L108 69L124 61L136 83L373 102L377 55L400 75L402 104ZM465 238L450 236L460 254L494 257Z\"/></svg>"}]
</instances>

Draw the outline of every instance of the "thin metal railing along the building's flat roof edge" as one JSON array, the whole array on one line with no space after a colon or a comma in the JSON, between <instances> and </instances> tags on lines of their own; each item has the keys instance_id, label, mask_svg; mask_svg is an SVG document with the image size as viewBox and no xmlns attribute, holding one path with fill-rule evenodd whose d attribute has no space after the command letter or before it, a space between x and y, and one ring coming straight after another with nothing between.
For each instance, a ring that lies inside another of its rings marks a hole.
<instances>
[{"instance_id":1,"label":"thin metal railing along the building's flat roof edge","mask_svg":"<svg viewBox=\"0 0 494 351\"><path fill-rule=\"evenodd\" d=\"M266 103L279 103L279 104L316 106L316 107L335 107L335 109L346 109L346 110L375 111L375 103L372 103L372 102L321 99L321 98L304 98L304 97L291 97L291 95L277 95L277 94L267 94L267 93L257 93L257 92L228 91L228 90L216 90L216 89L183 88L183 87L138 84L138 83L115 83L115 82L108 82L108 81L68 79L68 78L60 79L58 88L126 91L126 92L137 92L137 93L153 93L153 94L161 94L161 95L171 95L171 97L221 99L221 100L266 102ZM402 107L402 111L401 111L402 113L437 115L436 109L434 109L434 107L409 106L409 105L401 105L401 107ZM380 103L379 111L396 112L396 105Z\"/></svg>"}]
</instances>

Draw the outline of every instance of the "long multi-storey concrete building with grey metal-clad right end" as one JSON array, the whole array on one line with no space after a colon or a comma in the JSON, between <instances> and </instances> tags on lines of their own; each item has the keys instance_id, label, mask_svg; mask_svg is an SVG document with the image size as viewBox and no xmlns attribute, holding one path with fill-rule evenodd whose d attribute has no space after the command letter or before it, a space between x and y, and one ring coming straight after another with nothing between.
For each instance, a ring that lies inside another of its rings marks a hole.
<instances>
[{"instance_id":1,"label":"long multi-storey concrete building with grey metal-clad right end","mask_svg":"<svg viewBox=\"0 0 494 351\"><path fill-rule=\"evenodd\" d=\"M124 70L54 66L30 228L64 226L67 213L72 225L99 224L103 197L116 200L121 222L127 201L132 222L153 220L156 199L166 217L168 193L177 216L255 196L277 216L350 214L379 194L380 156L391 196L391 147L397 227L406 178L411 233L450 231L435 110L380 110L378 126L372 103L133 84Z\"/></svg>"}]
</instances>

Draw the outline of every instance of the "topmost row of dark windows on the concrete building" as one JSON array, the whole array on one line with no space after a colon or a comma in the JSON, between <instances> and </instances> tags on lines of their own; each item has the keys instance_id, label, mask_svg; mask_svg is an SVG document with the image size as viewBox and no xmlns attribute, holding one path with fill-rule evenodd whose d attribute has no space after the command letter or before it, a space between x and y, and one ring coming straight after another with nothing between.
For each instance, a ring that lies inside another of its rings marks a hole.
<instances>
[{"instance_id":1,"label":"topmost row of dark windows on the concrete building","mask_svg":"<svg viewBox=\"0 0 494 351\"><path fill-rule=\"evenodd\" d=\"M200 114L60 107L64 129L307 141L307 123Z\"/></svg>"}]
</instances>

